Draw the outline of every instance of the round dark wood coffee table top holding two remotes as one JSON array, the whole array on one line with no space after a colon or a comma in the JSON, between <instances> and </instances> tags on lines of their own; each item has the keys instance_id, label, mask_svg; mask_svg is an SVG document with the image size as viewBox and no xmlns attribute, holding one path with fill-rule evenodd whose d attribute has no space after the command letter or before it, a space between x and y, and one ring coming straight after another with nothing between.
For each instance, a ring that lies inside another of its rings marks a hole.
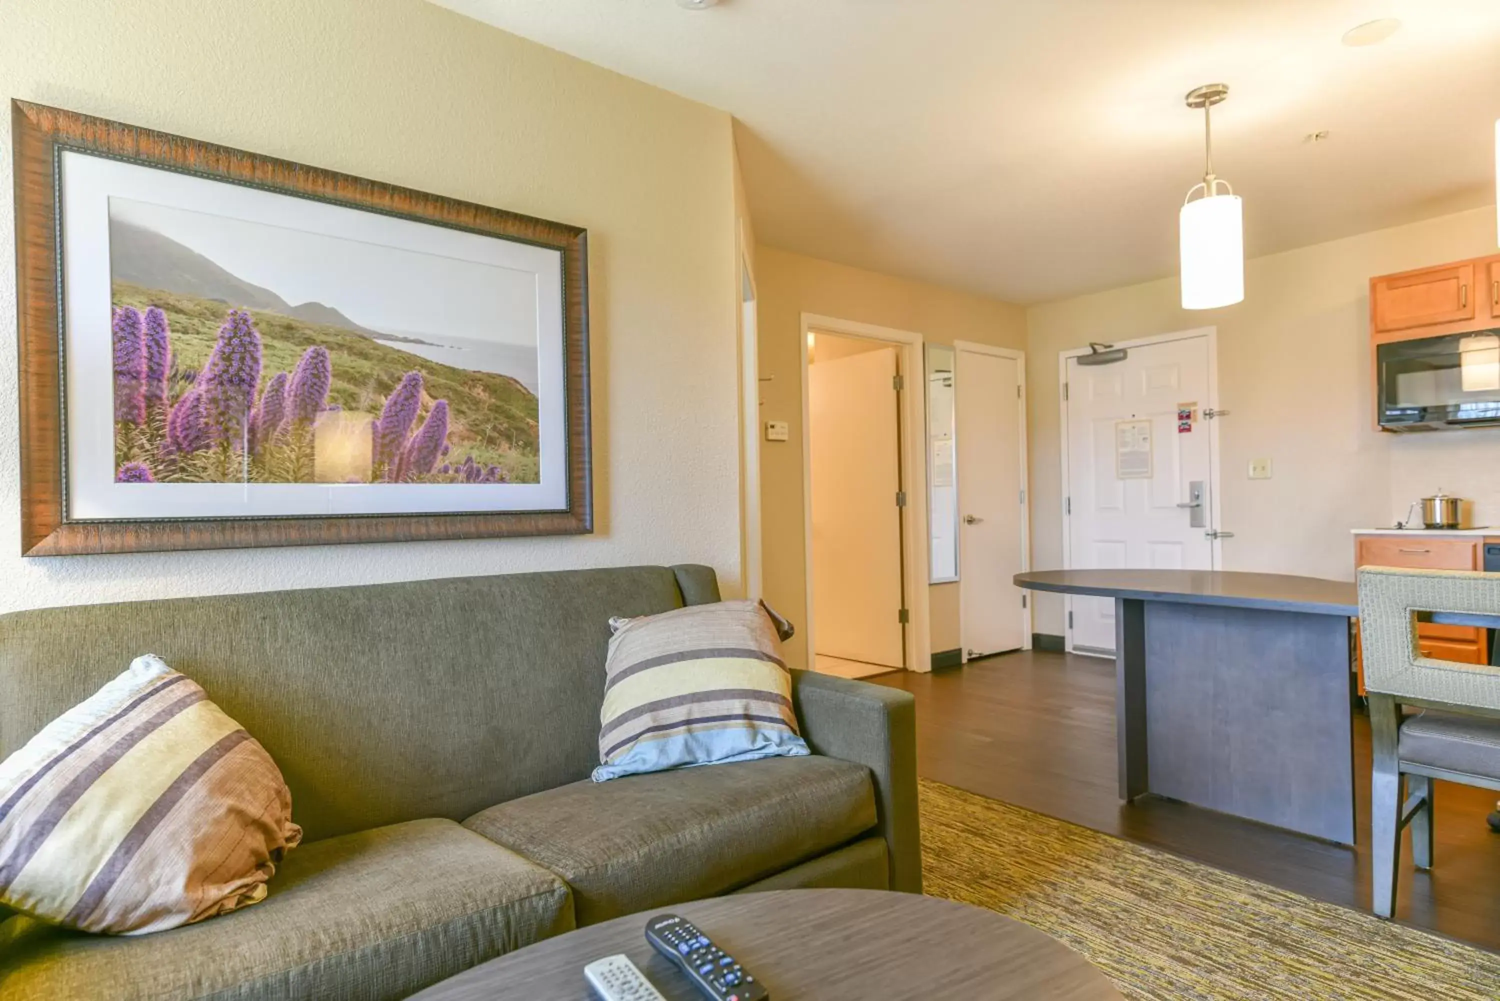
<instances>
[{"instance_id":1,"label":"round dark wood coffee table top holding two remotes","mask_svg":"<svg viewBox=\"0 0 1500 1001\"><path fill-rule=\"evenodd\" d=\"M700 1001L645 939L654 914L681 914L771 992L771 1001L1122 1001L1078 953L966 903L879 890L777 890L663 906L591 924L492 959L416 995L422 1001L584 1001L584 966L626 953L668 1001Z\"/></svg>"}]
</instances>

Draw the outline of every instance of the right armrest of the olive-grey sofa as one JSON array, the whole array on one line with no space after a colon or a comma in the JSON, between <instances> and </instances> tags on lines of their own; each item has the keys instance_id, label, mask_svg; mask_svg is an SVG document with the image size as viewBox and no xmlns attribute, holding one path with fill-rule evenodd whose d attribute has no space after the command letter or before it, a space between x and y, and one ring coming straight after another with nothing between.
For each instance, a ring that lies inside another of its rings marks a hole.
<instances>
[{"instance_id":1,"label":"right armrest of the olive-grey sofa","mask_svg":"<svg viewBox=\"0 0 1500 1001\"><path fill-rule=\"evenodd\" d=\"M866 765L890 849L891 888L922 891L916 822L916 699L910 692L792 671L792 704L813 753Z\"/></svg>"}]
</instances>

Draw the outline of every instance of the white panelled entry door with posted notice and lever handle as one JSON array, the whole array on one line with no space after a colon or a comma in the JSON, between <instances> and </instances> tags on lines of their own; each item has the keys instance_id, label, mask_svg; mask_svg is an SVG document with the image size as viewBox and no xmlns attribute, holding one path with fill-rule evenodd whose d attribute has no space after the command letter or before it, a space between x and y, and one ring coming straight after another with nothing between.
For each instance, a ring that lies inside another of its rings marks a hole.
<instances>
[{"instance_id":1,"label":"white panelled entry door with posted notice and lever handle","mask_svg":"<svg viewBox=\"0 0 1500 1001\"><path fill-rule=\"evenodd\" d=\"M1209 338L1128 350L1100 366L1068 359L1071 569L1212 570ZM1191 419L1179 422L1179 408ZM1191 485L1202 485L1194 527ZM1114 653L1114 602L1070 599L1068 648Z\"/></svg>"}]
</instances>

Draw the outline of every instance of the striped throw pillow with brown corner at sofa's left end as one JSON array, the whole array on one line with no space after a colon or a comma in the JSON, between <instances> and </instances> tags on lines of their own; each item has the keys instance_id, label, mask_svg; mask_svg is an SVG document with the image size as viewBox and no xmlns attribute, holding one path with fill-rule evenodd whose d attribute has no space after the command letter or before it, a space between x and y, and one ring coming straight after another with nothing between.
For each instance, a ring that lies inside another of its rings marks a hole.
<instances>
[{"instance_id":1,"label":"striped throw pillow with brown corner at sofa's left end","mask_svg":"<svg viewBox=\"0 0 1500 1001\"><path fill-rule=\"evenodd\" d=\"M0 762L0 905L158 932L255 903L302 839L280 770L153 656Z\"/></svg>"}]
</instances>

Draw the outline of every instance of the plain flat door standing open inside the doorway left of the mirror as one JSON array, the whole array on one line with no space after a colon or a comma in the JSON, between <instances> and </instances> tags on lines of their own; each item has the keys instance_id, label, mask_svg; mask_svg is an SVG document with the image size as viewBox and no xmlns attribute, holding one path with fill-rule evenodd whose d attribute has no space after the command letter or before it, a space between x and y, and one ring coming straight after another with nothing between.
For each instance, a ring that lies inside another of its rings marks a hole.
<instances>
[{"instance_id":1,"label":"plain flat door standing open inside the doorway left of the mirror","mask_svg":"<svg viewBox=\"0 0 1500 1001\"><path fill-rule=\"evenodd\" d=\"M807 369L814 653L904 666L896 348Z\"/></svg>"}]
</instances>

